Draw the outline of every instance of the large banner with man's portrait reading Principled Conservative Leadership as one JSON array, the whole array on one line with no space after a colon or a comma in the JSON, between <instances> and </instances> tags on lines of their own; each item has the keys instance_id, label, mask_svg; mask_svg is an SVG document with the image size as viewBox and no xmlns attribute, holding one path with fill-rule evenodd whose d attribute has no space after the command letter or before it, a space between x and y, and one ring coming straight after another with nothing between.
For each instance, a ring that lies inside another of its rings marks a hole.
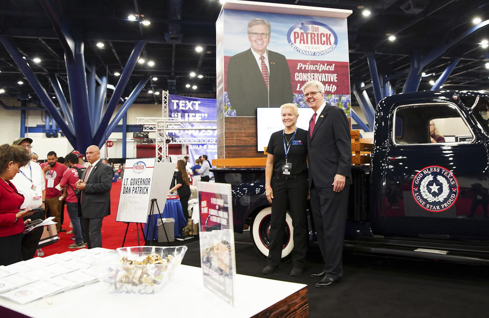
<instances>
[{"instance_id":1,"label":"large banner with man's portrait reading Principled Conservative Leadership","mask_svg":"<svg viewBox=\"0 0 489 318\"><path fill-rule=\"evenodd\" d=\"M322 9L307 11L311 15L294 14L293 8L281 13L224 8L216 27L226 26L222 30L225 117L256 116L257 107L284 103L308 107L301 88L310 80L323 83L324 99L350 117L348 12L328 16L325 10L330 9L325 8L308 7Z\"/></svg>"}]
</instances>

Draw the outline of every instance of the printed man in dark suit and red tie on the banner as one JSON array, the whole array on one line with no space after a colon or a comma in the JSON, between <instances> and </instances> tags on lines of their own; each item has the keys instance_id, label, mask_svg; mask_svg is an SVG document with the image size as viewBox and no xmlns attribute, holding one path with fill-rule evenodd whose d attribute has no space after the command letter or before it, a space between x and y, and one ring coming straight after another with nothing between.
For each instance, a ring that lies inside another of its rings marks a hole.
<instances>
[{"instance_id":1,"label":"printed man in dark suit and red tie on the banner","mask_svg":"<svg viewBox=\"0 0 489 318\"><path fill-rule=\"evenodd\" d=\"M266 49L270 23L248 22L248 40L251 48L231 56L228 64L228 97L237 116L256 116L257 107L280 107L293 99L285 56Z\"/></svg>"}]
</instances>

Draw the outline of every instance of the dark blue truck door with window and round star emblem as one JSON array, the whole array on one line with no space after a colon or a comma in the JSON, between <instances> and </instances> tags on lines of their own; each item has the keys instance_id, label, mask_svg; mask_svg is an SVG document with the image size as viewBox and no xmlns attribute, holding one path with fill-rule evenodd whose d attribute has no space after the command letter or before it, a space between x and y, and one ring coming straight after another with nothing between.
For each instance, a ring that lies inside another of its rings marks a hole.
<instances>
[{"instance_id":1,"label":"dark blue truck door with window and round star emblem","mask_svg":"<svg viewBox=\"0 0 489 318\"><path fill-rule=\"evenodd\" d=\"M487 136L473 129L473 116L445 102L400 105L391 120L379 230L388 236L487 238Z\"/></svg>"}]
</instances>

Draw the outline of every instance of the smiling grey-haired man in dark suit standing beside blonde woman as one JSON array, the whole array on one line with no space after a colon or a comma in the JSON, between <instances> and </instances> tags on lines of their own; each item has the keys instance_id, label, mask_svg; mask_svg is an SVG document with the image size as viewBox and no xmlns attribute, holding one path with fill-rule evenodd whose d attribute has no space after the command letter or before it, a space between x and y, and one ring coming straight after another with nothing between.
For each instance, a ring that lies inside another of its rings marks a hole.
<instances>
[{"instance_id":1,"label":"smiling grey-haired man in dark suit standing beside blonde woman","mask_svg":"<svg viewBox=\"0 0 489 318\"><path fill-rule=\"evenodd\" d=\"M309 190L317 241L324 261L316 287L330 287L343 275L348 191L351 184L350 125L343 110L324 101L324 85L309 81L302 91L314 110L309 122Z\"/></svg>"}]
</instances>

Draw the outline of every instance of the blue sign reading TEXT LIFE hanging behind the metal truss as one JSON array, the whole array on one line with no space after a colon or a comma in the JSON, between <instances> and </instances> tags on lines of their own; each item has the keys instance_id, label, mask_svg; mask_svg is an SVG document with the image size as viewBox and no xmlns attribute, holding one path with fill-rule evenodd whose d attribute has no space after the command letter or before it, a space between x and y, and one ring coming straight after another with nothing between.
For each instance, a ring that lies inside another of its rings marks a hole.
<instances>
[{"instance_id":1,"label":"blue sign reading TEXT LIFE hanging behind the metal truss","mask_svg":"<svg viewBox=\"0 0 489 318\"><path fill-rule=\"evenodd\" d=\"M178 95L169 95L168 115L170 118L182 121L215 121L215 99L195 98ZM199 125L202 126L202 125ZM215 128L216 123L209 123L206 127ZM178 130L170 133L175 138L212 138L217 136L216 130Z\"/></svg>"}]
</instances>

